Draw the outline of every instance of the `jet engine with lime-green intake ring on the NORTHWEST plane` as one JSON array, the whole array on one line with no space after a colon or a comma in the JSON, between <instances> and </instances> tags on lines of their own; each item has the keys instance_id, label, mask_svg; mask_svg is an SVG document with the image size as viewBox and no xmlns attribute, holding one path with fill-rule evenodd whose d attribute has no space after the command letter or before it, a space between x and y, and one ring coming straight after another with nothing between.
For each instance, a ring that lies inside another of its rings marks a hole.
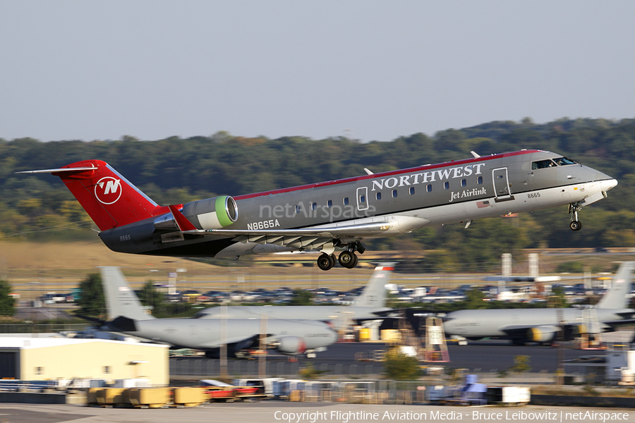
<instances>
[{"instance_id":1,"label":"jet engine with lime-green intake ring on the NORTHWEST plane","mask_svg":"<svg viewBox=\"0 0 635 423\"><path fill-rule=\"evenodd\" d=\"M236 201L229 195L188 202L181 213L199 229L224 228L238 219Z\"/></svg>"}]
</instances>

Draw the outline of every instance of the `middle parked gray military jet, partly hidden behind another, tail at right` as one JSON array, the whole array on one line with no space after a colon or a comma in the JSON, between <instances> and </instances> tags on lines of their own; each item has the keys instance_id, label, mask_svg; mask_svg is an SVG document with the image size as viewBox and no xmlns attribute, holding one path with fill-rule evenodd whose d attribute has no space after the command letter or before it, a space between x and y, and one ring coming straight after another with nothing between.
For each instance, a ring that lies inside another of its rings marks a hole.
<instances>
[{"instance_id":1,"label":"middle parked gray military jet, partly hidden behind another, tail at right","mask_svg":"<svg viewBox=\"0 0 635 423\"><path fill-rule=\"evenodd\" d=\"M393 309L386 307L385 285L390 281L394 263L380 263L362 293L351 305L254 305L226 307L229 319L259 318L266 314L268 319L302 319L330 321L335 329L341 329L346 321L377 320L387 316ZM219 319L223 311L220 307L210 307L198 312L201 319Z\"/></svg>"}]
</instances>

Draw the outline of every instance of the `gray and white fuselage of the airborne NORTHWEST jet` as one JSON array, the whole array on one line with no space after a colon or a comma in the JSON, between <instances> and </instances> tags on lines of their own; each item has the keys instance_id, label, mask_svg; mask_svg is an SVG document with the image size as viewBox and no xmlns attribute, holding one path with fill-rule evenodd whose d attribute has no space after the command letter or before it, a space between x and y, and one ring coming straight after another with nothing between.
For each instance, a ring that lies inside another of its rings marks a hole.
<instances>
[{"instance_id":1,"label":"gray and white fuselage of the airborne NORTHWEST jet","mask_svg":"<svg viewBox=\"0 0 635 423\"><path fill-rule=\"evenodd\" d=\"M607 190L617 185L605 173L573 162L538 167L557 157L550 152L523 150L239 195L233 198L238 210L236 219L226 228L275 232L385 223L381 233L359 230L337 240L337 245L349 245L363 238L409 233L422 226L565 204L584 206L602 199ZM184 214L187 207L188 204ZM196 228L213 231L218 228L214 226L217 220L212 222L209 215L187 217ZM215 214L213 217L216 219ZM169 221L171 215L162 219ZM183 257L238 257L259 252L319 250L324 245L324 240L300 237L282 241L282 237L274 237L271 242L262 242L262 237L250 235L162 233L157 231L160 220L144 219L102 231L99 236L114 251Z\"/></svg>"}]
</instances>

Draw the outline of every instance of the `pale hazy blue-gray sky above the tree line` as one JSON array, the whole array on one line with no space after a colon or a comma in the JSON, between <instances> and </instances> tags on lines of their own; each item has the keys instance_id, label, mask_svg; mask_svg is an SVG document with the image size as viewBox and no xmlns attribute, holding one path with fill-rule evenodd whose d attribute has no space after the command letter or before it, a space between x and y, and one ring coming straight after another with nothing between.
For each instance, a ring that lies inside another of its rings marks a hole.
<instances>
[{"instance_id":1,"label":"pale hazy blue-gray sky above the tree line","mask_svg":"<svg viewBox=\"0 0 635 423\"><path fill-rule=\"evenodd\" d=\"M0 137L635 117L635 1L0 0Z\"/></svg>"}]
</instances>

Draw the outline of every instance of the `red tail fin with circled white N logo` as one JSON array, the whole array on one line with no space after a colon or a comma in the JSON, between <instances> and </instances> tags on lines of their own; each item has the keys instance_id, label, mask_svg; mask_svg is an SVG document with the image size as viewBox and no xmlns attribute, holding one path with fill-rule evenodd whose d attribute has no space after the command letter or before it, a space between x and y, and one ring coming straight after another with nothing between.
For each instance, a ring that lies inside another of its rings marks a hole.
<instances>
[{"instance_id":1,"label":"red tail fin with circled white N logo","mask_svg":"<svg viewBox=\"0 0 635 423\"><path fill-rule=\"evenodd\" d=\"M51 173L63 180L101 231L169 212L101 160L78 161Z\"/></svg>"}]
</instances>

